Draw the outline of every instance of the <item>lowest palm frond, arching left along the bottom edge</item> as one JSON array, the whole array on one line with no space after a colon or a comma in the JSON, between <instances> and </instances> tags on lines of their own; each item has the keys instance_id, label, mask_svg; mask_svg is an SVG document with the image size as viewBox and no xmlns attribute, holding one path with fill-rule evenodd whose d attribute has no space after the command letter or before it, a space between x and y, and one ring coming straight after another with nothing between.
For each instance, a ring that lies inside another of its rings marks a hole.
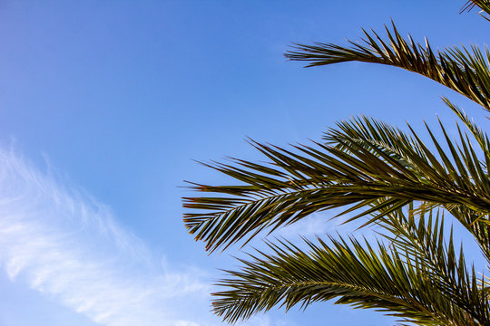
<instances>
[{"instance_id":1,"label":"lowest palm frond, arching left along the bottom edge","mask_svg":"<svg viewBox=\"0 0 490 326\"><path fill-rule=\"evenodd\" d=\"M274 306L289 310L295 305L306 308L312 302L336 300L420 325L489 322L487 313L476 315L457 305L427 277L425 265L407 264L397 250L379 243L375 248L355 239L329 240L331 245L321 239L318 244L306 241L309 252L289 243L270 245L272 254L241 260L241 270L228 271L229 278L218 284L226 290L213 293L217 297L214 311L225 321L235 322ZM458 284L482 299L478 288L465 278Z\"/></svg>"}]
</instances>

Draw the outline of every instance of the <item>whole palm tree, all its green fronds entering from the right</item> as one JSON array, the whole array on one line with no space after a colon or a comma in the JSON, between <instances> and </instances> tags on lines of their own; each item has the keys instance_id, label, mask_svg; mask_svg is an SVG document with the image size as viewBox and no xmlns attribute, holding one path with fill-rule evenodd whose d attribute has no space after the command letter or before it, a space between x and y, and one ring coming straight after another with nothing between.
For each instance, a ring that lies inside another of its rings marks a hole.
<instances>
[{"instance_id":1,"label":"whole palm tree, all its green fronds entering from the right","mask_svg":"<svg viewBox=\"0 0 490 326\"><path fill-rule=\"evenodd\" d=\"M490 1L473 0L490 20ZM490 51L472 46L435 51L428 43L364 32L360 42L296 44L290 60L319 66L373 62L417 72L465 95L490 111ZM464 110L446 98L461 120L458 137L446 128L428 141L408 126L402 131L365 117L337 123L323 141L282 149L250 140L270 164L231 159L208 165L238 182L192 184L206 194L184 198L184 222L210 252L261 231L269 233L311 213L343 207L348 221L376 226L376 243L339 235L267 242L228 271L213 293L214 312L224 321L249 318L274 306L286 310L336 300L371 308L418 325L490 325L490 283L466 262L453 241L454 221L463 225L490 263L490 140ZM341 215L342 215L341 214ZM449 226L448 226L449 225ZM306 248L306 249L305 249Z\"/></svg>"}]
</instances>

